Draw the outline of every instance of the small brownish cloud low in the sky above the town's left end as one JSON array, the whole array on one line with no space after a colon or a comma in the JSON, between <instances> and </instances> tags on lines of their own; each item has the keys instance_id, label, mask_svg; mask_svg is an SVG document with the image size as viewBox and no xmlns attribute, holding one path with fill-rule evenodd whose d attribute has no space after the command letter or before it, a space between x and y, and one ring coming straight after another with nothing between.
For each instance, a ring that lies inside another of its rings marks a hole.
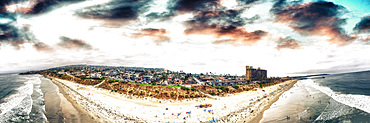
<instances>
[{"instance_id":1,"label":"small brownish cloud low in the sky above the town's left end","mask_svg":"<svg viewBox=\"0 0 370 123\"><path fill-rule=\"evenodd\" d=\"M92 46L83 40L71 39L64 36L60 37L60 40L61 42L58 45L66 49L92 49Z\"/></svg>"}]
</instances>

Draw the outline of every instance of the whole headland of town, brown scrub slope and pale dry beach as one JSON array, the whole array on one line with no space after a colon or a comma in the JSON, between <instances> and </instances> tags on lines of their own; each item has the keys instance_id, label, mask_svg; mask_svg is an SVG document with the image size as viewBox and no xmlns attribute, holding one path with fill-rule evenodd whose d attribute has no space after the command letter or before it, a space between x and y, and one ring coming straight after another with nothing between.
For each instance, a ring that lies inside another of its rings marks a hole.
<instances>
[{"instance_id":1,"label":"whole headland of town, brown scrub slope and pale dry beach","mask_svg":"<svg viewBox=\"0 0 370 123\"><path fill-rule=\"evenodd\" d=\"M163 68L69 65L39 74L98 122L258 122L264 110L301 77L193 74Z\"/></svg>"}]
</instances>

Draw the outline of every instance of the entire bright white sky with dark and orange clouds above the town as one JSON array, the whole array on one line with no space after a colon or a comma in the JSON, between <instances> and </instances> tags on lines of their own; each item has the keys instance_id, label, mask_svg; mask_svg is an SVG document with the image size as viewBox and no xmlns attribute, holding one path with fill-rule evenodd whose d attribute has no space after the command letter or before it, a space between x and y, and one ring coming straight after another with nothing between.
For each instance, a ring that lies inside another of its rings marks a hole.
<instances>
[{"instance_id":1,"label":"entire bright white sky with dark and orange clouds above the town","mask_svg":"<svg viewBox=\"0 0 370 123\"><path fill-rule=\"evenodd\" d=\"M369 0L1 0L0 73L73 64L370 70Z\"/></svg>"}]
</instances>

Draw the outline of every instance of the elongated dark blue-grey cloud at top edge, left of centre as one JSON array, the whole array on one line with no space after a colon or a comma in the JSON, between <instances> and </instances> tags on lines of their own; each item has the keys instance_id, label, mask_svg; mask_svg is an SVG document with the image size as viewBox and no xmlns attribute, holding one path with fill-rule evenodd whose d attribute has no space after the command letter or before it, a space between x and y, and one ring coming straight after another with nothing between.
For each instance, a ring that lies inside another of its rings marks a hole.
<instances>
[{"instance_id":1,"label":"elongated dark blue-grey cloud at top edge, left of centre","mask_svg":"<svg viewBox=\"0 0 370 123\"><path fill-rule=\"evenodd\" d=\"M76 15L89 19L123 19L135 20L146 11L150 0L114 0L107 4L80 9Z\"/></svg>"}]
</instances>

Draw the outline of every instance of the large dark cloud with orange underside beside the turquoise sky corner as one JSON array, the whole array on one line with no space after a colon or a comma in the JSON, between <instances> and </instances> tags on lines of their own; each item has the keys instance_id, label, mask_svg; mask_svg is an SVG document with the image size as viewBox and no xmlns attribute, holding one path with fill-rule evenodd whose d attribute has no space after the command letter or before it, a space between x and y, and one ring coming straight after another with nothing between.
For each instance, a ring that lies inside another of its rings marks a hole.
<instances>
[{"instance_id":1,"label":"large dark cloud with orange underside beside the turquoise sky corner","mask_svg":"<svg viewBox=\"0 0 370 123\"><path fill-rule=\"evenodd\" d=\"M302 35L328 36L331 43L346 44L353 40L341 28L346 24L341 19L346 8L332 2L310 2L304 4L293 3L282 8L284 1L278 1L270 11L276 14L276 21L289 23L289 26ZM280 9L282 8L282 9Z\"/></svg>"}]
</instances>

